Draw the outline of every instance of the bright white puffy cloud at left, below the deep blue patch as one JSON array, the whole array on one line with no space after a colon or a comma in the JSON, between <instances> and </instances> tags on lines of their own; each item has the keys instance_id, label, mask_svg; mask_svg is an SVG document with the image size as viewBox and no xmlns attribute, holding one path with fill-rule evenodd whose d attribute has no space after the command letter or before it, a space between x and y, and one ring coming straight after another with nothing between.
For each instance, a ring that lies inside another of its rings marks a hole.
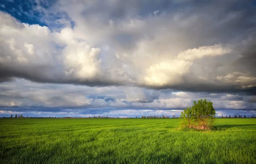
<instances>
[{"instance_id":1,"label":"bright white puffy cloud at left, below the deep blue patch","mask_svg":"<svg viewBox=\"0 0 256 164\"><path fill-rule=\"evenodd\" d=\"M0 14L2 77L80 83L99 73L100 49L74 38L72 29L51 32L46 26L19 23L8 14Z\"/></svg>"}]
</instances>

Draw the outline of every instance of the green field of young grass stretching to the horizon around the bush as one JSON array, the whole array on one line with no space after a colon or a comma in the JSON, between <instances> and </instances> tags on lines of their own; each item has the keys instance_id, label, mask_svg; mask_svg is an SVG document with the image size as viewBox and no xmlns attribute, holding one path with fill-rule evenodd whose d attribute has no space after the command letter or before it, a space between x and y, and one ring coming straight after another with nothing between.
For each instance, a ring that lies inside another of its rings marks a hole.
<instances>
[{"instance_id":1,"label":"green field of young grass stretching to the horizon around the bush","mask_svg":"<svg viewBox=\"0 0 256 164\"><path fill-rule=\"evenodd\" d=\"M0 119L1 164L256 164L256 119Z\"/></svg>"}]
</instances>

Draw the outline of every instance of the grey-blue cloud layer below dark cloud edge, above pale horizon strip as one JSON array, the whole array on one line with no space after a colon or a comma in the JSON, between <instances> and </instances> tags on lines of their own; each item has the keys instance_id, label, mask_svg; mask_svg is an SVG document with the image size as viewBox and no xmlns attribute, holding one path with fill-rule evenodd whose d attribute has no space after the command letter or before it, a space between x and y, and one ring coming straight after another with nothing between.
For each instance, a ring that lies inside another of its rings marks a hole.
<instances>
[{"instance_id":1,"label":"grey-blue cloud layer below dark cloud edge, above pale horizon strip","mask_svg":"<svg viewBox=\"0 0 256 164\"><path fill-rule=\"evenodd\" d=\"M45 84L15 79L0 85L0 109L19 107L55 110L79 109L185 109L193 101L207 98L215 109L256 108L255 96L230 93L172 92L127 86L89 87L72 84Z\"/></svg>"}]
</instances>

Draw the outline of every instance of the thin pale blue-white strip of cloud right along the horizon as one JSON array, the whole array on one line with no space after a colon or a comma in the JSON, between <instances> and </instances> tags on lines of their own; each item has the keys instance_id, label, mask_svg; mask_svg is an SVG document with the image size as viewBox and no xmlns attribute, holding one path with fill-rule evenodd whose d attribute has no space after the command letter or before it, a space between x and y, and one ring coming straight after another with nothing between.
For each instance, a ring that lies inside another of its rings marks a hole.
<instances>
[{"instance_id":1,"label":"thin pale blue-white strip of cloud right along the horizon","mask_svg":"<svg viewBox=\"0 0 256 164\"><path fill-rule=\"evenodd\" d=\"M93 116L108 116L108 117L119 117L119 118L128 118L128 117L138 117L141 116L169 116L170 118L175 115L176 117L180 117L180 110L148 110L148 109L123 109L123 110L112 110L112 111L95 111L92 113L84 113L81 110L69 110L66 109L63 112L47 112L47 111L40 111L40 112L17 112L17 111L10 111L10 110L0 110L0 115L4 117L10 117L10 115L23 115L26 117L93 117ZM216 116L221 117L233 116L233 115L246 115L247 117L256 115L255 110L217 110Z\"/></svg>"}]
</instances>

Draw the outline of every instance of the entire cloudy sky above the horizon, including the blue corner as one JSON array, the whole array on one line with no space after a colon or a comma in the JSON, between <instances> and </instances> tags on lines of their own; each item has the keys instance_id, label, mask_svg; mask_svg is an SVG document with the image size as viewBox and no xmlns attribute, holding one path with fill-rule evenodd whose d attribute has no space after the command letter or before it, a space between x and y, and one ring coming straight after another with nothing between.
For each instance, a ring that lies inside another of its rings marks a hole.
<instances>
[{"instance_id":1,"label":"entire cloudy sky above the horizon, including the blue corner","mask_svg":"<svg viewBox=\"0 0 256 164\"><path fill-rule=\"evenodd\" d=\"M254 0L1 0L0 117L256 115Z\"/></svg>"}]
</instances>

